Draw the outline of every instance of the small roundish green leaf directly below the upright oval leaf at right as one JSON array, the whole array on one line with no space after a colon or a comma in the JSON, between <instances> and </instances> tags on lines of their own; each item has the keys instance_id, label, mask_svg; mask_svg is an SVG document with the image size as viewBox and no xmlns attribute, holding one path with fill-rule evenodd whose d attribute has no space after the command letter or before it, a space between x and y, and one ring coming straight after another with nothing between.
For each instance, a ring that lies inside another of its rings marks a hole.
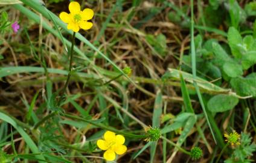
<instances>
[{"instance_id":1,"label":"small roundish green leaf directly below the upright oval leaf at right","mask_svg":"<svg viewBox=\"0 0 256 163\"><path fill-rule=\"evenodd\" d=\"M243 69L240 64L237 62L226 62L223 65L223 71L229 76L229 77L238 77L240 75L243 75Z\"/></svg>"}]
</instances>

